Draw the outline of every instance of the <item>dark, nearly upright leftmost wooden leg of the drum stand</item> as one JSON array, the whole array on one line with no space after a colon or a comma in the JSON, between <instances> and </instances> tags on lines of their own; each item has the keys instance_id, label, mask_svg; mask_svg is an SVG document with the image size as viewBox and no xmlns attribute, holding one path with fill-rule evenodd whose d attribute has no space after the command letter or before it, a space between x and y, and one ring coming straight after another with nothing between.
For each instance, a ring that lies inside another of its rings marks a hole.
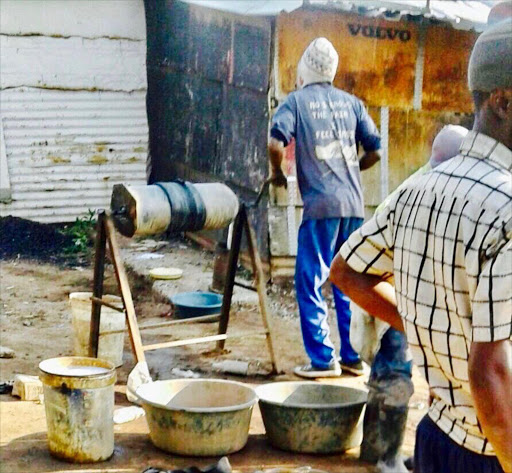
<instances>
[{"instance_id":1,"label":"dark, nearly upright leftmost wooden leg of the drum stand","mask_svg":"<svg viewBox=\"0 0 512 473\"><path fill-rule=\"evenodd\" d=\"M105 211L102 210L98 214L96 224L96 250L94 254L94 279L91 304L91 322L89 336L89 356L98 357L98 343L100 338L100 319L101 304L97 301L103 297L103 276L105 273L105 250L107 245L107 236L105 232Z\"/></svg>"}]
</instances>

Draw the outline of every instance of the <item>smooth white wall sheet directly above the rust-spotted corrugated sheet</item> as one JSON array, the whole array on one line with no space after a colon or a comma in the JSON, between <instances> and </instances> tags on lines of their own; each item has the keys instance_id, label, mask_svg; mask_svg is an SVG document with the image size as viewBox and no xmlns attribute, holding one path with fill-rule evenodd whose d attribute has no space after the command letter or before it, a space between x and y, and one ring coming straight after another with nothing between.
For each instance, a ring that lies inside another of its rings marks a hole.
<instances>
[{"instance_id":1,"label":"smooth white wall sheet directly above the rust-spotted corrugated sheet","mask_svg":"<svg viewBox=\"0 0 512 473\"><path fill-rule=\"evenodd\" d=\"M147 88L145 41L1 35L0 63L2 89Z\"/></svg>"}]
</instances>

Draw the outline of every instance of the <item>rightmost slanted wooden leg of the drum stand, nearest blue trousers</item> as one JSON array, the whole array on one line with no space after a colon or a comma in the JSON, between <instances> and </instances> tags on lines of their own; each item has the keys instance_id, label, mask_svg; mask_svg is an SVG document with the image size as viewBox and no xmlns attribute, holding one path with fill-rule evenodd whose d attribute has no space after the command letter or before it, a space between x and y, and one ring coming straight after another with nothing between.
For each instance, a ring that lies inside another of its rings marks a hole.
<instances>
[{"instance_id":1,"label":"rightmost slanted wooden leg of the drum stand, nearest blue trousers","mask_svg":"<svg viewBox=\"0 0 512 473\"><path fill-rule=\"evenodd\" d=\"M279 373L279 368L277 366L277 360L274 352L274 345L272 343L272 330L267 304L267 288L265 287L265 277L263 273L263 267L261 265L260 254L258 252L258 246L256 243L256 236L245 211L243 212L243 217L245 234L247 235L247 242L249 245L249 254L251 255L253 272L256 278L256 289L258 291L261 319L263 321L263 326L265 327L265 332L267 333L267 345L270 354L270 360L272 362L272 370L274 373Z\"/></svg>"}]
</instances>

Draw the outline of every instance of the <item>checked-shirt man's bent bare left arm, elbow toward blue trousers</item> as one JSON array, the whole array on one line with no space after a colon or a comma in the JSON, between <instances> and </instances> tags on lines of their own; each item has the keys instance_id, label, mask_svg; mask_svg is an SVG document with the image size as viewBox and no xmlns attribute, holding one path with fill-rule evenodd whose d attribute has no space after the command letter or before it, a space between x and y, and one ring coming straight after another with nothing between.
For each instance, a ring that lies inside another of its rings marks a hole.
<instances>
[{"instance_id":1,"label":"checked-shirt man's bent bare left arm, elbow toward blue trousers","mask_svg":"<svg viewBox=\"0 0 512 473\"><path fill-rule=\"evenodd\" d=\"M378 276L358 273L338 254L331 265L331 282L358 306L393 328L404 331L402 318L396 308L394 287Z\"/></svg>"}]
</instances>

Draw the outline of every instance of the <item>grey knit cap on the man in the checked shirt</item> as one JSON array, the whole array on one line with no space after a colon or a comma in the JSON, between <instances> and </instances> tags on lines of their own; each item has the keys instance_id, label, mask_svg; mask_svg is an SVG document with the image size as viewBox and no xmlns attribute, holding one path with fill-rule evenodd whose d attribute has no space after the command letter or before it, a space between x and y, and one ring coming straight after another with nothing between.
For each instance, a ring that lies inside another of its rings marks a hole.
<instances>
[{"instance_id":1,"label":"grey knit cap on the man in the checked shirt","mask_svg":"<svg viewBox=\"0 0 512 473\"><path fill-rule=\"evenodd\" d=\"M512 87L512 18L492 25L476 40L468 85L469 90L480 92Z\"/></svg>"}]
</instances>

